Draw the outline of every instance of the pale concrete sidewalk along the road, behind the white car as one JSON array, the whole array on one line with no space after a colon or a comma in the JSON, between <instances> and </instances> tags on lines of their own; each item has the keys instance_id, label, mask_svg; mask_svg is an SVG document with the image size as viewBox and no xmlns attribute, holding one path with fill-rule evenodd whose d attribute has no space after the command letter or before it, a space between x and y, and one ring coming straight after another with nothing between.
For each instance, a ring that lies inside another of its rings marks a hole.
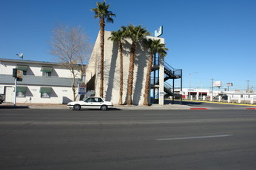
<instances>
[{"instance_id":1,"label":"pale concrete sidewalk along the road, behind the white car","mask_svg":"<svg viewBox=\"0 0 256 170\"><path fill-rule=\"evenodd\" d=\"M64 109L68 110L66 104L16 104L16 106L13 106L13 104L1 104L1 108L30 108L30 109ZM189 110L191 107L181 104L164 104L164 105L158 105L153 104L151 106L127 106L127 105L114 105L113 109L119 109L119 110Z\"/></svg>"}]
</instances>

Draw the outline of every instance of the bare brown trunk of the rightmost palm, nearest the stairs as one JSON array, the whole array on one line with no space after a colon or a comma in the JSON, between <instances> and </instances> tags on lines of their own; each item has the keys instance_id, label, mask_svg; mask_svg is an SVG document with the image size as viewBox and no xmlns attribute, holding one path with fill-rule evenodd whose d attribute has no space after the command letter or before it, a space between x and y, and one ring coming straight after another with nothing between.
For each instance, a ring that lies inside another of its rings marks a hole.
<instances>
[{"instance_id":1,"label":"bare brown trunk of the rightmost palm, nearest the stairs","mask_svg":"<svg viewBox=\"0 0 256 170\"><path fill-rule=\"evenodd\" d=\"M153 54L150 54L150 58L148 59L148 64L147 64L147 76L146 76L144 103L143 103L145 106L148 106L148 94L150 91L150 73L152 68L152 62L153 62Z\"/></svg>"}]
</instances>

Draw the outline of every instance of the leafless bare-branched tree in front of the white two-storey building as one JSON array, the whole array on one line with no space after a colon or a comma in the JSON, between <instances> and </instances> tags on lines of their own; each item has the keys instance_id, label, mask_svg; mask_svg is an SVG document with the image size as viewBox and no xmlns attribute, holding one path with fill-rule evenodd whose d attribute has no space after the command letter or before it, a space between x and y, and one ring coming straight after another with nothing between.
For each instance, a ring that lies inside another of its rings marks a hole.
<instances>
[{"instance_id":1,"label":"leafless bare-branched tree in front of the white two-storey building","mask_svg":"<svg viewBox=\"0 0 256 170\"><path fill-rule=\"evenodd\" d=\"M71 71L74 100L77 98L75 81L85 76L85 63L92 51L88 36L79 26L57 26L50 41L50 53ZM80 77L76 70L80 70Z\"/></svg>"}]
</instances>

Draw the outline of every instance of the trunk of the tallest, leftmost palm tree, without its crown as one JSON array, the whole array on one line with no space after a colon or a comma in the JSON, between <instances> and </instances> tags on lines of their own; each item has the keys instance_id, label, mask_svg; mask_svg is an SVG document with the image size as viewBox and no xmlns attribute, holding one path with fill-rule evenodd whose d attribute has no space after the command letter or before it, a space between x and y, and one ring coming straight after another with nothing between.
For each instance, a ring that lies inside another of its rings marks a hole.
<instances>
[{"instance_id":1,"label":"trunk of the tallest, leftmost palm tree, without its crown","mask_svg":"<svg viewBox=\"0 0 256 170\"><path fill-rule=\"evenodd\" d=\"M99 22L100 26L100 49L101 49L101 57L100 57L100 97L103 97L103 90L104 90L104 28L105 28L105 21L104 18L100 19Z\"/></svg>"}]
</instances>

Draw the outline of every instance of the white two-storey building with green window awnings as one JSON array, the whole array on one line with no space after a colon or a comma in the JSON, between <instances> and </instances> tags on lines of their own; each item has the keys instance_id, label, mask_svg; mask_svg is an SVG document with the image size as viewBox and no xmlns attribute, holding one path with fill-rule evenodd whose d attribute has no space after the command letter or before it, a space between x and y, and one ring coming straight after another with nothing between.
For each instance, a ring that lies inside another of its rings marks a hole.
<instances>
[{"instance_id":1,"label":"white two-storey building with green window awnings","mask_svg":"<svg viewBox=\"0 0 256 170\"><path fill-rule=\"evenodd\" d=\"M73 100L73 78L61 63L0 58L0 93L5 94L5 102L14 101L14 68L23 71L22 81L17 81L17 103L67 104ZM79 65L75 72L77 86L81 82Z\"/></svg>"}]
</instances>

